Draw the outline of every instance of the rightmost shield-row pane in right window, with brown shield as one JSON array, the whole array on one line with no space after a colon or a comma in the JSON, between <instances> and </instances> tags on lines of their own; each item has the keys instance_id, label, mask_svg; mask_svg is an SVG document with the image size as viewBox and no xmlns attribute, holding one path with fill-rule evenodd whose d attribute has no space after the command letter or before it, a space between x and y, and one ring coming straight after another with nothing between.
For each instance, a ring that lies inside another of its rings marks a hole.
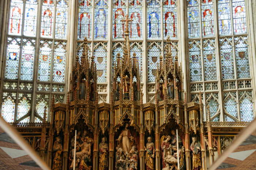
<instances>
[{"instance_id":1,"label":"rightmost shield-row pane in right window, with brown shield","mask_svg":"<svg viewBox=\"0 0 256 170\"><path fill-rule=\"evenodd\" d=\"M235 39L236 40L236 39ZM247 44L242 40L236 43L237 78L250 77L249 58Z\"/></svg>"}]
</instances>

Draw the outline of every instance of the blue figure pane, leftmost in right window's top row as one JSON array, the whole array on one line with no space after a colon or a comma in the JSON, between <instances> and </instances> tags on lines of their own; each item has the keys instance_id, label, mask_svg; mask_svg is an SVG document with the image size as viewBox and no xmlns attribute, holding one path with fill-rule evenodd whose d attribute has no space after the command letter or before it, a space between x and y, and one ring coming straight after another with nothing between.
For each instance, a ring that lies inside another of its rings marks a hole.
<instances>
[{"instance_id":1,"label":"blue figure pane, leftmost in right window's top row","mask_svg":"<svg viewBox=\"0 0 256 170\"><path fill-rule=\"evenodd\" d=\"M197 0L188 2L188 37L200 37L199 4Z\"/></svg>"}]
</instances>

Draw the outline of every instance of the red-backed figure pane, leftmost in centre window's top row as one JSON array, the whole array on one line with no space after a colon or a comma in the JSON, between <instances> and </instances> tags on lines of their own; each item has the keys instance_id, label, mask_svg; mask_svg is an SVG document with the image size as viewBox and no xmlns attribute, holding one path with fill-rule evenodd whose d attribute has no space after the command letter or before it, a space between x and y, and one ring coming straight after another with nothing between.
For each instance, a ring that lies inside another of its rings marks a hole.
<instances>
[{"instance_id":1,"label":"red-backed figure pane, leftmost in centre window's top row","mask_svg":"<svg viewBox=\"0 0 256 170\"><path fill-rule=\"evenodd\" d=\"M90 0L79 0L78 39L91 39L91 3Z\"/></svg>"}]
</instances>

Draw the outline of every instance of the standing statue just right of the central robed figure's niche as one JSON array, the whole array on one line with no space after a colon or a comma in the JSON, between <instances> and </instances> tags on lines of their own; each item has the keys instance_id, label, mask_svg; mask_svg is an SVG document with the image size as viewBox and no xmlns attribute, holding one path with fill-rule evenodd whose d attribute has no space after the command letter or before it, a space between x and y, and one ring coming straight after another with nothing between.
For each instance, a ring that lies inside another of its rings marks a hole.
<instances>
[{"instance_id":1,"label":"standing statue just right of the central robed figure's niche","mask_svg":"<svg viewBox=\"0 0 256 170\"><path fill-rule=\"evenodd\" d=\"M151 137L147 138L148 143L145 147L145 163L146 170L153 170L154 168L154 158L155 158L155 145L151 142Z\"/></svg>"}]
</instances>

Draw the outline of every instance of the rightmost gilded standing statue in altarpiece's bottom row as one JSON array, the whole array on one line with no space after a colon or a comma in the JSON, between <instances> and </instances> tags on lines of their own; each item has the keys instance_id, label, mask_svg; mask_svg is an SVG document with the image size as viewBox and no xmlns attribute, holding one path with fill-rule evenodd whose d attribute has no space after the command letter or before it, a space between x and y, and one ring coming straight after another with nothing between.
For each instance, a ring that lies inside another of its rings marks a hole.
<instances>
[{"instance_id":1,"label":"rightmost gilded standing statue in altarpiece's bottom row","mask_svg":"<svg viewBox=\"0 0 256 170\"><path fill-rule=\"evenodd\" d=\"M192 138L190 145L191 157L192 157L192 170L202 170L201 165L201 147L199 143L196 143L196 138Z\"/></svg>"}]
</instances>

